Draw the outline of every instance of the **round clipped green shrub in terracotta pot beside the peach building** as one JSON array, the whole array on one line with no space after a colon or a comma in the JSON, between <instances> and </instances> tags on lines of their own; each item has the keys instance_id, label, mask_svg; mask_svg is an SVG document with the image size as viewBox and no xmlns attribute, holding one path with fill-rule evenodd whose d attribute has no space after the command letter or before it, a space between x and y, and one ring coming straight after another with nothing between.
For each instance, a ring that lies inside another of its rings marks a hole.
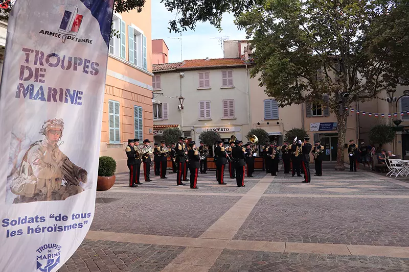
<instances>
[{"instance_id":1,"label":"round clipped green shrub in terracotta pot beside the peach building","mask_svg":"<svg viewBox=\"0 0 409 272\"><path fill-rule=\"evenodd\" d=\"M108 156L99 158L97 191L109 190L115 183L117 162Z\"/></svg>"}]
</instances>

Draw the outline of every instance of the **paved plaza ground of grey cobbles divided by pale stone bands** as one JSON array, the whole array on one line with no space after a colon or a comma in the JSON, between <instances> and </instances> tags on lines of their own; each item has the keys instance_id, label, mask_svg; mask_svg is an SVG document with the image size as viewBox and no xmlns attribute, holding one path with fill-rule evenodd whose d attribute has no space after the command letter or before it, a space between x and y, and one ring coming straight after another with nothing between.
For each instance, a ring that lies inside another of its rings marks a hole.
<instances>
[{"instance_id":1,"label":"paved plaza ground of grey cobbles divided by pale stone bands","mask_svg":"<svg viewBox=\"0 0 409 272\"><path fill-rule=\"evenodd\" d=\"M406 180L324 167L305 184L281 169L239 188L210 171L193 190L168 177L129 188L120 174L97 192L90 231L58 271L409 271Z\"/></svg>"}]
</instances>

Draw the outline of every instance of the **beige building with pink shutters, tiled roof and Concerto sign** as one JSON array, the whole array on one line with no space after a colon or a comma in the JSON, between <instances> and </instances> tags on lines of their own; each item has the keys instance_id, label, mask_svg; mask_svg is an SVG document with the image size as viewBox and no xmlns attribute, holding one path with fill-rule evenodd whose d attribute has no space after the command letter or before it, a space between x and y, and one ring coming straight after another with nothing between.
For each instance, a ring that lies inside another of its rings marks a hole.
<instances>
[{"instance_id":1,"label":"beige building with pink shutters, tiled roof and Concerto sign","mask_svg":"<svg viewBox=\"0 0 409 272\"><path fill-rule=\"evenodd\" d=\"M240 58L154 65L155 142L166 126L174 125L196 142L203 131L216 131L225 142L232 135L244 141L250 120L248 69Z\"/></svg>"}]
</instances>

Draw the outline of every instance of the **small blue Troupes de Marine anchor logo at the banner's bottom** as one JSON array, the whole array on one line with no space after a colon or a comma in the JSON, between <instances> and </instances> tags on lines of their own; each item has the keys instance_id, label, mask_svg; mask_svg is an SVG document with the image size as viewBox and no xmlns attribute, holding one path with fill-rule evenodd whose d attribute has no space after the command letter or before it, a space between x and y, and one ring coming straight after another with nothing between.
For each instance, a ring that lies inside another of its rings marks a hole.
<instances>
[{"instance_id":1,"label":"small blue Troupes de Marine anchor logo at the banner's bottom","mask_svg":"<svg viewBox=\"0 0 409 272\"><path fill-rule=\"evenodd\" d=\"M60 263L61 246L58 244L44 244L36 252L37 272L51 272Z\"/></svg>"}]
</instances>

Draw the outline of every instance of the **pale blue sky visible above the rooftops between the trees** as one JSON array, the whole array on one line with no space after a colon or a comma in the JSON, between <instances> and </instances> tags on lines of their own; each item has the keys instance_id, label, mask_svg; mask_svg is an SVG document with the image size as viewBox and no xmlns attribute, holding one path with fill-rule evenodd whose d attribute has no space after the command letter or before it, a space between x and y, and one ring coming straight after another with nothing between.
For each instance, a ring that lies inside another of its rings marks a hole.
<instances>
[{"instance_id":1,"label":"pale blue sky visible above the rooftops between the trees","mask_svg":"<svg viewBox=\"0 0 409 272\"><path fill-rule=\"evenodd\" d=\"M169 62L180 61L180 34L169 33L169 20L175 15L168 12L160 0L152 0L152 40L164 39L169 48ZM229 40L245 39L245 32L239 31L234 24L233 14L225 13L219 32L209 22L198 22L194 31L182 33L182 56L184 60L223 58L223 51L218 37L229 36Z\"/></svg>"}]
</instances>

